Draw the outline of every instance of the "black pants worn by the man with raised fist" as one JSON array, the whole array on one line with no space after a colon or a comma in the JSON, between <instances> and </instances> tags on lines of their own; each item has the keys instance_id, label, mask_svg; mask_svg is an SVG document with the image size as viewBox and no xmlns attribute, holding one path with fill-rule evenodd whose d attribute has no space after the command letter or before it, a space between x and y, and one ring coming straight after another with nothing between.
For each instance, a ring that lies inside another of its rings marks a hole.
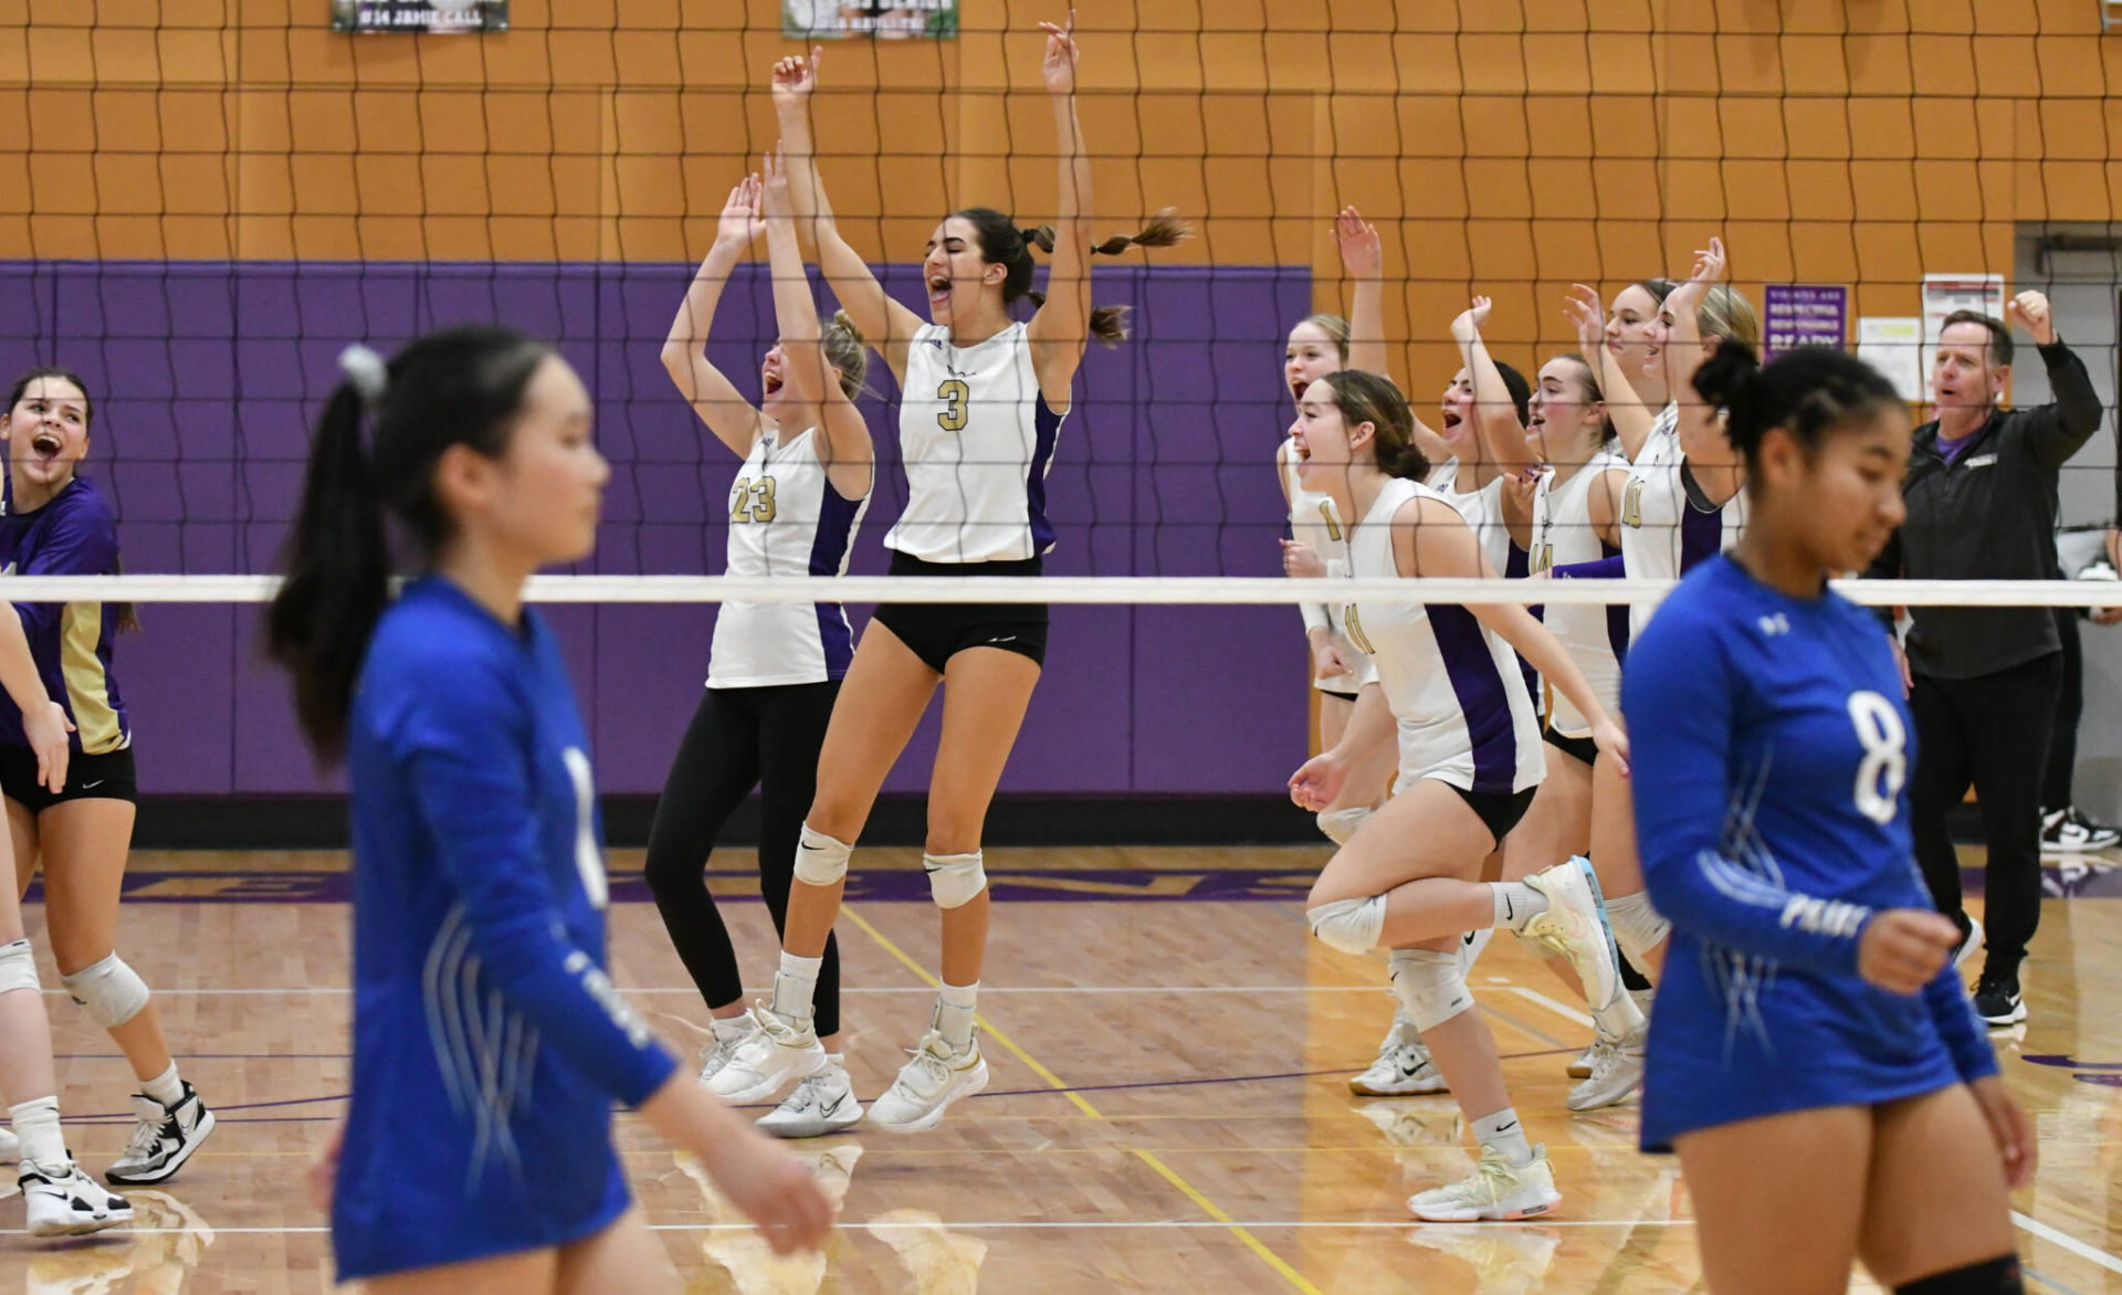
<instances>
[{"instance_id":1,"label":"black pants worn by the man with raised fist","mask_svg":"<svg viewBox=\"0 0 2122 1295\"><path fill-rule=\"evenodd\" d=\"M1908 694L1916 715L1916 773L1908 785L1916 862L1937 911L1967 930L1961 856L1946 815L1971 781L1988 841L1990 970L2018 972L2041 921L2041 773L2060 686L2063 654L2050 652L1973 679L1918 673Z\"/></svg>"}]
</instances>

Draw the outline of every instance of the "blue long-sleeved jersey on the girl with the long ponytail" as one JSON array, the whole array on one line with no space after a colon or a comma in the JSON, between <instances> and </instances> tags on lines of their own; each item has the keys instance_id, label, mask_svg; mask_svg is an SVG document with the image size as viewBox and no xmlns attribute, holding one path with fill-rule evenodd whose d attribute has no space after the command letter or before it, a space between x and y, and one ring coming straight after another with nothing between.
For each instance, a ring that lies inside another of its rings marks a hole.
<instances>
[{"instance_id":1,"label":"blue long-sleeved jersey on the girl with the long ponytail","mask_svg":"<svg viewBox=\"0 0 2122 1295\"><path fill-rule=\"evenodd\" d=\"M441 577L354 694L354 1083L340 1280L564 1244L628 1202L611 1102L675 1068L605 977L588 741L552 631Z\"/></svg>"}]
</instances>

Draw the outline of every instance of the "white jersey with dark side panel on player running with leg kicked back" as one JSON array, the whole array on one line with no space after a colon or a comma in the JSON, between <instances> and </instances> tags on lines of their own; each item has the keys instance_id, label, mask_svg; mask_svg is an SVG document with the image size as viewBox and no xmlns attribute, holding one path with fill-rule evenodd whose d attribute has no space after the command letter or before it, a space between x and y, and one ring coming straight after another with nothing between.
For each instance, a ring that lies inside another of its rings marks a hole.
<instances>
[{"instance_id":1,"label":"white jersey with dark side panel on player running with leg kicked back","mask_svg":"<svg viewBox=\"0 0 2122 1295\"><path fill-rule=\"evenodd\" d=\"M1347 539L1350 575L1394 580L1392 518L1413 499L1445 499L1407 480L1390 480ZM1509 643L1458 605L1352 603L1347 635L1377 664L1401 730L1407 790L1434 777L1464 792L1511 794L1538 785L1547 766L1532 698Z\"/></svg>"}]
</instances>

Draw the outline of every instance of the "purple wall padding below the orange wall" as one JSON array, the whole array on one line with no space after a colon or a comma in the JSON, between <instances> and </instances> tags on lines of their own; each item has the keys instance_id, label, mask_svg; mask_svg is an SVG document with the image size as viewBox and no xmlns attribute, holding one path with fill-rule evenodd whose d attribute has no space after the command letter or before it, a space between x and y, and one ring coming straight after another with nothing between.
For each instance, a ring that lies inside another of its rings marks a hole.
<instances>
[{"instance_id":1,"label":"purple wall padding below the orange wall","mask_svg":"<svg viewBox=\"0 0 2122 1295\"><path fill-rule=\"evenodd\" d=\"M613 461L596 573L713 573L736 461L671 388L658 350L692 265L605 263L0 263L0 367L83 374L95 399L87 476L108 488L129 571L269 571L308 452L306 420L350 342L390 350L448 323L501 318L552 338L598 401ZM921 308L919 267L887 284ZM1282 338L1311 308L1303 267L1101 265L1097 301L1135 335L1091 348L1048 478L1057 575L1273 575L1284 503L1273 448L1290 420ZM772 340L764 265L738 272L711 355L758 395ZM879 495L853 571L885 569L906 482L898 393L868 401ZM567 641L605 792L658 792L707 675L711 607L550 609ZM855 609L855 620L868 609ZM255 607L149 607L119 647L140 790L318 792L257 660ZM857 626L859 628L859 626ZM1004 794L1273 794L1305 752L1303 643L1290 607L1059 607L1046 677ZM887 792L921 792L936 707Z\"/></svg>"}]
</instances>

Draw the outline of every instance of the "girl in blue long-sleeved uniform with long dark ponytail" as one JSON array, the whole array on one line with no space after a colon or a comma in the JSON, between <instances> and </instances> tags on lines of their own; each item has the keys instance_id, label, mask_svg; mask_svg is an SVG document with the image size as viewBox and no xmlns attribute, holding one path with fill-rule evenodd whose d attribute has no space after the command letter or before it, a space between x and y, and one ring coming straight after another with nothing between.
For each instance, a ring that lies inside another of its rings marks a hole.
<instances>
[{"instance_id":1,"label":"girl in blue long-sleeved uniform with long dark ponytail","mask_svg":"<svg viewBox=\"0 0 2122 1295\"><path fill-rule=\"evenodd\" d=\"M581 380L497 327L422 338L388 369L361 348L342 363L267 620L303 735L352 788L340 1278L656 1289L613 1100L696 1153L777 1250L815 1248L830 1208L808 1172L681 1074L603 970L588 739L522 605L533 571L596 539L611 469ZM395 601L386 512L427 567Z\"/></svg>"}]
</instances>

